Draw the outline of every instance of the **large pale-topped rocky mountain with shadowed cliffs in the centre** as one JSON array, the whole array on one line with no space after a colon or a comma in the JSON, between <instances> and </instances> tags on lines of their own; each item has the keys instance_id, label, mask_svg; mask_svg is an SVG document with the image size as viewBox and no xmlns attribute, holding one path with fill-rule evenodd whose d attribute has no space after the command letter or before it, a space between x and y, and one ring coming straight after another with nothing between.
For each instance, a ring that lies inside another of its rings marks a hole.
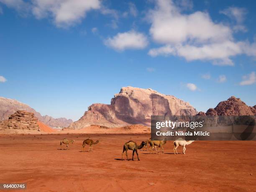
<instances>
[{"instance_id":1,"label":"large pale-topped rocky mountain with shadowed cliffs in the centre","mask_svg":"<svg viewBox=\"0 0 256 192\"><path fill-rule=\"evenodd\" d=\"M196 115L188 102L152 89L122 87L111 99L111 104L92 104L84 115L69 128L80 129L90 125L123 127L130 124L150 126L151 115Z\"/></svg>"}]
</instances>

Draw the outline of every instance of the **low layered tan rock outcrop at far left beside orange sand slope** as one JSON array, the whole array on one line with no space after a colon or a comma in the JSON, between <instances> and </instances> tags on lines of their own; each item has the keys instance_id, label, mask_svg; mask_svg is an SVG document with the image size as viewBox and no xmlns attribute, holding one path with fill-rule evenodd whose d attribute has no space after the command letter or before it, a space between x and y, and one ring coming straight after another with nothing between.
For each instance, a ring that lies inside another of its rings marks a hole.
<instances>
[{"instance_id":1,"label":"low layered tan rock outcrop at far left beside orange sand slope","mask_svg":"<svg viewBox=\"0 0 256 192\"><path fill-rule=\"evenodd\" d=\"M33 113L25 110L18 110L16 113L10 115L8 120L0 122L1 129L28 129L28 130L40 130L37 118Z\"/></svg>"}]
</instances>

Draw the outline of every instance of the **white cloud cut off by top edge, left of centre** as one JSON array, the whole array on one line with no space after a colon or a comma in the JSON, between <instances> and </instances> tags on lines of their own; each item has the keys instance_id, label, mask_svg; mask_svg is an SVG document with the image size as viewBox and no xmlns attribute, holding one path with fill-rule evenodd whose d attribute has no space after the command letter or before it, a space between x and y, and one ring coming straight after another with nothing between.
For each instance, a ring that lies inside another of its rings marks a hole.
<instances>
[{"instance_id":1,"label":"white cloud cut off by top edge, left of centre","mask_svg":"<svg viewBox=\"0 0 256 192\"><path fill-rule=\"evenodd\" d=\"M36 18L50 16L58 27L68 27L80 22L92 9L100 9L99 0L32 0Z\"/></svg>"}]
</instances>

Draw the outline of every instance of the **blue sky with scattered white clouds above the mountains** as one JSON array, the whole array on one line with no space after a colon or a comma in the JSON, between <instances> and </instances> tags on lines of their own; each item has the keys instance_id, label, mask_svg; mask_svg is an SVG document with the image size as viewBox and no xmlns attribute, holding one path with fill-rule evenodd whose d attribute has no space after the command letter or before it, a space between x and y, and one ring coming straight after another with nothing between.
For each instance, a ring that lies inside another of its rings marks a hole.
<instances>
[{"instance_id":1,"label":"blue sky with scattered white clouds above the mountains","mask_svg":"<svg viewBox=\"0 0 256 192\"><path fill-rule=\"evenodd\" d=\"M75 2L75 3L74 3ZM0 0L0 96L78 120L121 87L256 105L256 2Z\"/></svg>"}]
</instances>

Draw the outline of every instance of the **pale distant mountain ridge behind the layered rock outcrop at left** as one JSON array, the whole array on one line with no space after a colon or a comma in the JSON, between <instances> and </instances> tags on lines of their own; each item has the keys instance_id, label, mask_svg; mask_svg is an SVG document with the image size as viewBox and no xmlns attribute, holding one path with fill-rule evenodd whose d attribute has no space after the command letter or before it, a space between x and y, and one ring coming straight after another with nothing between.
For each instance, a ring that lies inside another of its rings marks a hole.
<instances>
[{"instance_id":1,"label":"pale distant mountain ridge behind the layered rock outcrop at left","mask_svg":"<svg viewBox=\"0 0 256 192\"><path fill-rule=\"evenodd\" d=\"M7 120L8 117L15 113L17 110L26 110L28 112L34 113L38 120L51 127L67 127L70 125L70 123L73 122L71 119L67 120L66 118L54 119L48 115L42 116L40 113L36 112L36 110L26 104L13 99L0 97L0 121Z\"/></svg>"}]
</instances>

